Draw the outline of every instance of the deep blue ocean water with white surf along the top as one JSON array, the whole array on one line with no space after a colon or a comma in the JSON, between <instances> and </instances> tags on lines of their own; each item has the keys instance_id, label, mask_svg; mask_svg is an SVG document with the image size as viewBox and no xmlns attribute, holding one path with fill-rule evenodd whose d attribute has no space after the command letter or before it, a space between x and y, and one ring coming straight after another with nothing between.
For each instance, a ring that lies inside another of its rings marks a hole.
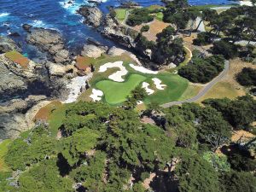
<instances>
[{"instance_id":1,"label":"deep blue ocean water with white surf along the top","mask_svg":"<svg viewBox=\"0 0 256 192\"><path fill-rule=\"evenodd\" d=\"M73 6L65 4L68 0L0 0L0 35L19 32L21 37L14 38L24 43L26 32L22 24L53 28L62 33L67 47L77 49L86 38L95 38L103 44L113 44L102 38L95 29L84 26L83 18L76 14L80 5L89 4L86 0L73 0ZM100 8L106 13L107 6L118 6L118 0L103 0ZM160 0L136 0L142 6L160 4ZM190 4L229 4L228 0L189 0ZM25 46L25 52L27 47ZM32 52L32 51L31 51ZM29 55L29 54L28 54Z\"/></svg>"}]
</instances>

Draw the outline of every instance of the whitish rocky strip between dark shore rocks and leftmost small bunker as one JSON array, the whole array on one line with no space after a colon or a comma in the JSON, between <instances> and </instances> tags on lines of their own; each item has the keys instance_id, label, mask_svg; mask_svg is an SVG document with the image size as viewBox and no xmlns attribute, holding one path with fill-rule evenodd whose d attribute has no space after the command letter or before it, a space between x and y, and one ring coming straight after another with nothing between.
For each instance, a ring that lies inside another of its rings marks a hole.
<instances>
[{"instance_id":1,"label":"whitish rocky strip between dark shore rocks and leftmost small bunker","mask_svg":"<svg viewBox=\"0 0 256 192\"><path fill-rule=\"evenodd\" d=\"M89 78L89 76L83 76L71 79L70 84L67 84L67 89L69 89L70 92L67 96L67 100L64 101L64 103L71 103L77 101L81 90L83 89L83 87L85 88L86 80Z\"/></svg>"}]
</instances>

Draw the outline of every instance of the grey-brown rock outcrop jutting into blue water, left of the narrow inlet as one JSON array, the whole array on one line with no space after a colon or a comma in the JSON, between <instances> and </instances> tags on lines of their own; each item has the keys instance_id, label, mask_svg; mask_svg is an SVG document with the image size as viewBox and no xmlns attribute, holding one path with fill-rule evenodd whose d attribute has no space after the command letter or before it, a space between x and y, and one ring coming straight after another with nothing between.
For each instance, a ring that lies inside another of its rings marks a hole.
<instances>
[{"instance_id":1,"label":"grey-brown rock outcrop jutting into blue water, left of the narrow inlet","mask_svg":"<svg viewBox=\"0 0 256 192\"><path fill-rule=\"evenodd\" d=\"M26 41L48 52L51 59L57 63L67 64L71 61L69 51L64 48L64 41L60 32L51 29L33 28L27 35Z\"/></svg>"}]
</instances>

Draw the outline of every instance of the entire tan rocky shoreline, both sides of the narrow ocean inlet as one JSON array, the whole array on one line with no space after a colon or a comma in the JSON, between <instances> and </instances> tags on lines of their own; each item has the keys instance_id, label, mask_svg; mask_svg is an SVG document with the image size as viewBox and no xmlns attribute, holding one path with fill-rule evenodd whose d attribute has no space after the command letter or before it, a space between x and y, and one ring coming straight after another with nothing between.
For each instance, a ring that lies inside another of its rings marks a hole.
<instances>
[{"instance_id":1,"label":"entire tan rocky shoreline, both sides of the narrow ocean inlet","mask_svg":"<svg viewBox=\"0 0 256 192\"><path fill-rule=\"evenodd\" d=\"M136 52L147 67L158 61L158 56L153 54L157 51L140 46L135 38L137 32L120 25L110 14L103 15L95 6L82 6L78 13L84 16L85 25L95 27L103 37ZM74 102L79 93L86 89L91 77L91 73L85 73L84 69L76 66L77 56L67 49L60 32L28 24L22 27L27 34L26 43L46 54L47 59L40 63L29 61L26 68L20 67L5 55L9 51L21 53L20 47L12 39L0 37L0 93L3 95L0 101L0 139L17 137L20 131L31 128L32 120L26 117L32 116L32 113L35 115L39 107L44 107L49 101ZM121 55L124 52L124 49L108 48L87 39L79 55L98 58L102 54ZM130 55L138 65L143 65L137 55ZM79 77L84 75L84 78ZM74 84L74 87L70 84Z\"/></svg>"}]
</instances>

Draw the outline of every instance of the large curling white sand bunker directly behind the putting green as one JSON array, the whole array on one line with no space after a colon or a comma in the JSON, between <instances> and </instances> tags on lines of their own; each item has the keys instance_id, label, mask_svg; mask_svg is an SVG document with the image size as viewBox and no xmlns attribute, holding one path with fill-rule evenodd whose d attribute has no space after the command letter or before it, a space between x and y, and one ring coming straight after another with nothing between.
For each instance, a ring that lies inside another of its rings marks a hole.
<instances>
[{"instance_id":1,"label":"large curling white sand bunker directly behind the putting green","mask_svg":"<svg viewBox=\"0 0 256 192\"><path fill-rule=\"evenodd\" d=\"M123 61L108 62L100 67L99 73L106 72L108 68L113 68L113 67L119 67L120 71L108 76L108 79L111 79L116 82L125 81L125 79L123 79L122 76L125 76L128 73L128 71L123 66Z\"/></svg>"}]
</instances>

